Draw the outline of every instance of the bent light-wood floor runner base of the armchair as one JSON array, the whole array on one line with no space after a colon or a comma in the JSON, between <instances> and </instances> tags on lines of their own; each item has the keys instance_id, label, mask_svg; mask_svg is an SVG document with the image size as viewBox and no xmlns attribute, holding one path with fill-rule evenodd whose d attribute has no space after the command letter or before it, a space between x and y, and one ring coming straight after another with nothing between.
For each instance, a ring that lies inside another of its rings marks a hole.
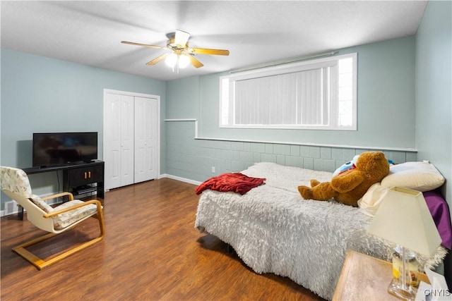
<instances>
[{"instance_id":1,"label":"bent light-wood floor runner base of the armchair","mask_svg":"<svg viewBox=\"0 0 452 301\"><path fill-rule=\"evenodd\" d=\"M37 242L41 242L42 240L47 240L48 238L52 238L53 236L57 235L56 233L48 233L46 235L40 236L39 238L35 238L34 240L30 240L29 242L24 242L22 245L18 245L17 247L13 247L13 252L16 252L21 257L25 258L37 267L37 269L44 269L46 266L49 266L50 264L54 264L55 262L59 262L61 259L64 259L68 257L71 254L74 254L75 252L81 251L85 249L86 247L89 247L90 245L94 245L96 242L99 242L102 240L105 236L105 223L104 223L104 217L102 214L102 211L100 211L100 214L97 214L95 216L96 219L99 220L99 226L100 226L100 235L97 238L93 238L92 240L88 240L87 242L83 242L83 244L78 245L76 247L73 247L70 250L67 250L66 252L63 252L61 254L58 254L55 257L52 257L50 259L44 260L40 257L37 257L35 254L32 254L32 252L25 249L25 247L30 247L30 245L35 245Z\"/></svg>"}]
</instances>

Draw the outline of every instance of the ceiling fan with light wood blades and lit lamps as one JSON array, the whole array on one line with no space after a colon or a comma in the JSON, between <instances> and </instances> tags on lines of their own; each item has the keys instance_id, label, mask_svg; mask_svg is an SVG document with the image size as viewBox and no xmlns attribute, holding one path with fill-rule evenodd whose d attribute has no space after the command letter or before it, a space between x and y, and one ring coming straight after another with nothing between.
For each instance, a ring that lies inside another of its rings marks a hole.
<instances>
[{"instance_id":1,"label":"ceiling fan with light wood blades and lit lamps","mask_svg":"<svg viewBox=\"0 0 452 301\"><path fill-rule=\"evenodd\" d=\"M228 56L229 50L225 49L206 49L206 48L190 48L189 47L189 37L190 34L188 32L184 32L183 30L176 30L176 32L170 32L167 34L167 47L157 46L157 45L149 45L149 44L141 44L135 42L121 41L123 44L131 44L136 46L157 48L157 49L167 49L171 52L167 54L162 54L161 56L157 56L152 61L148 61L147 65L155 65L156 63L165 59L165 62L168 66L172 67L174 70L174 66L179 68L185 68L191 63L196 68L200 68L203 65L200 61L195 59L196 54L209 54L209 55L218 55L218 56Z\"/></svg>"}]
</instances>

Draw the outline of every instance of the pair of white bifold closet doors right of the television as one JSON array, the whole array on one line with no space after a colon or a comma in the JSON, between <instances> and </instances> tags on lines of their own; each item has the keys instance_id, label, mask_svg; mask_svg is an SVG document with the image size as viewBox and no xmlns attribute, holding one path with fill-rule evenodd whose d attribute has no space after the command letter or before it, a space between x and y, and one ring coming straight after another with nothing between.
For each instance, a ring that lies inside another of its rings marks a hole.
<instances>
[{"instance_id":1,"label":"pair of white bifold closet doors right of the television","mask_svg":"<svg viewBox=\"0 0 452 301\"><path fill-rule=\"evenodd\" d=\"M157 99L105 94L105 189L157 178L157 113Z\"/></svg>"}]
</instances>

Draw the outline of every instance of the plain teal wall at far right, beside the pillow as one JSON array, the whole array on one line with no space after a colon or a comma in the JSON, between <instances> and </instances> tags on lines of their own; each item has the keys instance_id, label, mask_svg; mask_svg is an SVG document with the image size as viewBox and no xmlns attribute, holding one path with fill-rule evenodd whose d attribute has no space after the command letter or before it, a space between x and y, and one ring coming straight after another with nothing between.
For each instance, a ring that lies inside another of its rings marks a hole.
<instances>
[{"instance_id":1,"label":"plain teal wall at far right, beside the pillow","mask_svg":"<svg viewBox=\"0 0 452 301\"><path fill-rule=\"evenodd\" d=\"M416 147L448 179L442 192L452 209L452 2L429 1L416 35ZM451 211L452 216L452 211ZM452 288L452 255L446 278Z\"/></svg>"}]
</instances>

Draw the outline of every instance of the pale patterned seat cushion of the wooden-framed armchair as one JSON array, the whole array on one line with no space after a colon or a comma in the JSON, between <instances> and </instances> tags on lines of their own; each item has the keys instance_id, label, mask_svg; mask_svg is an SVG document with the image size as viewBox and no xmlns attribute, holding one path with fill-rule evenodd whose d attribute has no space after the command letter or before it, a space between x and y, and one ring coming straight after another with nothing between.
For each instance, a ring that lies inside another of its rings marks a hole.
<instances>
[{"instance_id":1,"label":"pale patterned seat cushion of the wooden-framed armchair","mask_svg":"<svg viewBox=\"0 0 452 301\"><path fill-rule=\"evenodd\" d=\"M58 211L61 209L66 209L76 204L83 204L83 201L79 199L74 199L73 201L69 201L55 207L54 210ZM71 211L64 212L62 214L58 214L57 216L52 217L52 219L54 219L54 228L55 229L66 228L87 216L94 215L96 212L97 206L95 204L89 204L87 206L83 206L77 209L73 209Z\"/></svg>"}]
</instances>

